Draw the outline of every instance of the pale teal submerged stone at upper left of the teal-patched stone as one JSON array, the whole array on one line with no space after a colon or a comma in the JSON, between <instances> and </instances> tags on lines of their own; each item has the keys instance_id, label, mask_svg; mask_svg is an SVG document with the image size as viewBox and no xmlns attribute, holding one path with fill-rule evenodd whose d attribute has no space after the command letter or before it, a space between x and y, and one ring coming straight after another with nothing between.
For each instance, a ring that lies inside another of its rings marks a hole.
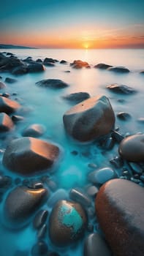
<instances>
[{"instance_id":1,"label":"pale teal submerged stone at upper left of the teal-patched stone","mask_svg":"<svg viewBox=\"0 0 144 256\"><path fill-rule=\"evenodd\" d=\"M55 193L53 193L53 195L48 200L48 206L52 207L58 202L58 200L67 200L67 199L68 199L67 191L64 189L58 189L56 190Z\"/></svg>"}]
</instances>

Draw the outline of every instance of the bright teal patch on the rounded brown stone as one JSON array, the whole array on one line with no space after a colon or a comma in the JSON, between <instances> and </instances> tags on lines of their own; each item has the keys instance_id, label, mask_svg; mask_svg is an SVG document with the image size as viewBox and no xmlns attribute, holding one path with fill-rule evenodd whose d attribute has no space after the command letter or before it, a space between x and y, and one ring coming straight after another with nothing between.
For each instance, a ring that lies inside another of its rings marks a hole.
<instances>
[{"instance_id":1,"label":"bright teal patch on the rounded brown stone","mask_svg":"<svg viewBox=\"0 0 144 256\"><path fill-rule=\"evenodd\" d=\"M83 219L72 206L61 206L58 217L63 225L72 227L74 234L77 234L83 226Z\"/></svg>"}]
</instances>

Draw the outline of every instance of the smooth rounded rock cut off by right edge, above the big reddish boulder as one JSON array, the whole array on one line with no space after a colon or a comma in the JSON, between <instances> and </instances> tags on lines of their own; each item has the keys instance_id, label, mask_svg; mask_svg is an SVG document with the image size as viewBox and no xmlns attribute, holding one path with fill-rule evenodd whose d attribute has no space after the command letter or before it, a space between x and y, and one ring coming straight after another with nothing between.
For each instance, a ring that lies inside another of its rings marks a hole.
<instances>
[{"instance_id":1,"label":"smooth rounded rock cut off by right edge, above the big reddish boulder","mask_svg":"<svg viewBox=\"0 0 144 256\"><path fill-rule=\"evenodd\" d=\"M124 138L120 143L118 152L129 162L143 162L144 135L132 135Z\"/></svg>"}]
</instances>

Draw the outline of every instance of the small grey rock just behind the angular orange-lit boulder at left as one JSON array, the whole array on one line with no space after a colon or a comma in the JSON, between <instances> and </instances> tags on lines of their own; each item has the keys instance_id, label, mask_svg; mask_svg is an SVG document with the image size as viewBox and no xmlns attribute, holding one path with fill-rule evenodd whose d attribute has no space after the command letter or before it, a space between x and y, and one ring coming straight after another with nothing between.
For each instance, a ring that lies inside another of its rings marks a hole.
<instances>
[{"instance_id":1,"label":"small grey rock just behind the angular orange-lit boulder at left","mask_svg":"<svg viewBox=\"0 0 144 256\"><path fill-rule=\"evenodd\" d=\"M22 135L24 137L38 138L45 132L45 127L40 124L31 124L29 127L23 130Z\"/></svg>"}]
</instances>

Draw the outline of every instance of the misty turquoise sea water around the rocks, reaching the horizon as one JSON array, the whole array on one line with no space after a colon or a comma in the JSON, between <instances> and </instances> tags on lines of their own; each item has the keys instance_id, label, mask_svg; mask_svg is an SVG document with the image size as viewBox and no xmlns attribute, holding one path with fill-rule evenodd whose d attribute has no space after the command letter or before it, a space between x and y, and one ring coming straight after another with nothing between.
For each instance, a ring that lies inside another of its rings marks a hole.
<instances>
[{"instance_id":1,"label":"misty turquoise sea water around the rocks, reaching the horizon","mask_svg":"<svg viewBox=\"0 0 144 256\"><path fill-rule=\"evenodd\" d=\"M118 112L124 111L129 113L132 118L129 121L120 121L116 118L115 127L119 127L119 132L123 135L126 132L135 134L144 132L144 123L137 121L138 118L144 118L143 99L144 99L144 75L140 75L140 71L144 70L144 50L59 50L59 49L9 49L1 50L15 53L20 59L25 59L31 56L34 60L45 57L64 59L68 64L56 63L56 67L46 67L46 71L42 73L34 73L27 75L14 76L9 73L1 73L2 80L6 77L17 78L17 83L7 84L7 91L12 95L11 99L18 100L23 108L25 108L25 119L19 122L15 129L7 134L7 137L1 137L1 154L3 149L11 138L20 138L22 131L29 124L42 124L46 128L46 132L42 135L43 140L48 140L58 144L61 148L61 159L56 167L55 173L51 174L53 181L56 181L58 188L65 189L69 196L69 190L78 187L85 189L88 182L88 173L91 169L88 164L94 163L98 168L110 166L110 159L118 155L118 146L113 150L105 152L99 148L96 143L77 143L64 130L63 115L72 107L72 104L65 101L63 96L78 92L86 91L91 97L102 94L109 97L115 115ZM91 69L72 69L69 64L75 59L88 61L91 64ZM128 74L118 74L107 70L94 69L94 65L98 63L110 64L113 66L124 66L130 69ZM70 70L70 72L65 72ZM46 78L57 78L69 83L66 89L52 90L42 89L35 85L39 80ZM137 94L121 95L113 94L106 89L107 85L112 83L120 83L130 86L137 90ZM119 102L119 99L124 99L124 102ZM73 155L72 151L77 151L77 155ZM18 175L5 170L1 165L1 170L6 175L12 178L18 178ZM121 175L120 170L115 170L118 175ZM44 174L45 175L45 174ZM23 179L23 177L22 177ZM17 250L26 250L28 256L31 255L31 247L37 241L37 233L32 225L24 227L22 230L10 230L3 225L3 206L4 200L7 197L7 191L4 194L3 200L0 203L0 256L15 256ZM50 197L53 195L51 193ZM92 201L92 199L91 199ZM91 207L94 208L94 202ZM48 205L42 206L47 209ZM51 208L48 208L51 211ZM89 219L89 222L94 224L96 231L96 219ZM88 235L88 233L86 233ZM48 237L48 235L47 235ZM79 241L73 248L59 249L48 242L50 250L58 252L60 255L83 255L83 240Z\"/></svg>"}]
</instances>

